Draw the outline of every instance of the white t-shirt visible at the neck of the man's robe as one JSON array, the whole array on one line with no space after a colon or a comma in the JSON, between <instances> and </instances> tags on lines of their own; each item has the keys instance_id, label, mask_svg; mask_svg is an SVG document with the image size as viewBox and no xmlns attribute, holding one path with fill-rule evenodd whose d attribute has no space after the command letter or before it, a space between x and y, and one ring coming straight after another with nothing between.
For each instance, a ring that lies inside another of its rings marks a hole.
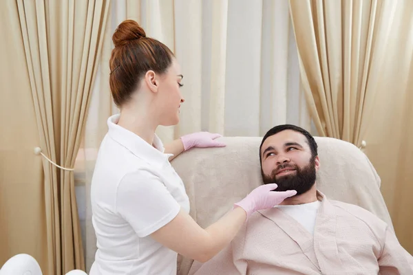
<instances>
[{"instance_id":1,"label":"white t-shirt visible at the neck of the man's robe","mask_svg":"<svg viewBox=\"0 0 413 275\"><path fill-rule=\"evenodd\" d=\"M289 214L296 221L308 230L311 234L314 234L315 219L317 217L317 211L320 206L319 201L310 203L297 204L297 205L279 205L277 208L281 209L286 214Z\"/></svg>"}]
</instances>

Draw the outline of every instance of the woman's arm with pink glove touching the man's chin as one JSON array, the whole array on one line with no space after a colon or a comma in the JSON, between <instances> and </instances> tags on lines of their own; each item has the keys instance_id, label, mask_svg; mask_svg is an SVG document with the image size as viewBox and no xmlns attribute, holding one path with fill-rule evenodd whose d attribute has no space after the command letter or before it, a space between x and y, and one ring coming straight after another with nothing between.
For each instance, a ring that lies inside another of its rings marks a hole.
<instances>
[{"instance_id":1,"label":"woman's arm with pink glove touching the man's chin","mask_svg":"<svg viewBox=\"0 0 413 275\"><path fill-rule=\"evenodd\" d=\"M187 258L200 262L209 261L231 243L242 228L242 224L246 222L248 214L256 210L273 208L286 197L297 194L295 190L273 192L275 188L277 184L258 186L244 199L235 203L235 209L206 229L202 229L187 212L181 209L172 221L153 232L151 236L162 245Z\"/></svg>"}]
</instances>

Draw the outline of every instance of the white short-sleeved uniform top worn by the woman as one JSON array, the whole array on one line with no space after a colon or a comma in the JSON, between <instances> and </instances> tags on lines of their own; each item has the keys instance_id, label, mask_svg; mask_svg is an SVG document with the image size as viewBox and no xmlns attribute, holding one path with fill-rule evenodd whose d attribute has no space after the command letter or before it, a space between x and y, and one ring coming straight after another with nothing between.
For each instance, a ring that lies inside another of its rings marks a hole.
<instances>
[{"instance_id":1,"label":"white short-sleeved uniform top worn by the woman","mask_svg":"<svg viewBox=\"0 0 413 275\"><path fill-rule=\"evenodd\" d=\"M97 252L90 275L176 274L177 253L149 236L180 208L189 212L182 179L162 142L153 146L117 125L107 124L92 178L92 223ZM154 148L156 147L156 148Z\"/></svg>"}]
</instances>

